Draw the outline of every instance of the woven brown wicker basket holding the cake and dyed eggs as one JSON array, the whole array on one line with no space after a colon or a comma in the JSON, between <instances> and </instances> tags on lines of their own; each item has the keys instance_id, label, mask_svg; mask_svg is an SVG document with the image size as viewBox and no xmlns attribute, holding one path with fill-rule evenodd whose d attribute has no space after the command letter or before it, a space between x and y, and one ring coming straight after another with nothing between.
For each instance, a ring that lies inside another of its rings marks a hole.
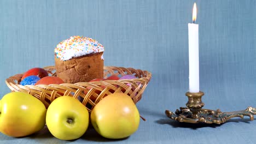
<instances>
[{"instance_id":1,"label":"woven brown wicker basket holding the cake and dyed eggs","mask_svg":"<svg viewBox=\"0 0 256 144\"><path fill-rule=\"evenodd\" d=\"M49 76L56 76L55 67L45 67ZM137 79L132 80L107 80L98 82L62 83L61 85L19 85L23 74L17 74L5 80L7 86L13 92L25 92L42 101L47 108L50 103L62 95L70 95L79 99L91 112L94 106L106 95L121 92L130 95L136 104L141 98L152 74L146 70L122 67L104 67L104 78L110 75L135 75Z\"/></svg>"}]
</instances>

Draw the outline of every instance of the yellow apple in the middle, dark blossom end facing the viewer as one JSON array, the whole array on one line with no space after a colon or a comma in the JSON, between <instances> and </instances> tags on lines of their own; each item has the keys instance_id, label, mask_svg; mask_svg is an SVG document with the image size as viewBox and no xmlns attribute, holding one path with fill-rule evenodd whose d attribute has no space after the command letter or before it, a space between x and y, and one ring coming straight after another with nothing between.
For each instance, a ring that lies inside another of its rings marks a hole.
<instances>
[{"instance_id":1,"label":"yellow apple in the middle, dark blossom end facing the viewer","mask_svg":"<svg viewBox=\"0 0 256 144\"><path fill-rule=\"evenodd\" d=\"M58 139L78 139L88 128L89 112L79 100L62 96L49 105L46 125L50 133Z\"/></svg>"}]
</instances>

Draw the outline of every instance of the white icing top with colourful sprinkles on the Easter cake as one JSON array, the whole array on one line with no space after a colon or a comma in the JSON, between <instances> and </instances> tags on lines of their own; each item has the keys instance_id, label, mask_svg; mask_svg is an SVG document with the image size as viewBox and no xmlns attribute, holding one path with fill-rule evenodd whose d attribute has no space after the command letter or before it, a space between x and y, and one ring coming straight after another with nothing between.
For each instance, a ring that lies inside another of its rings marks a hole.
<instances>
[{"instance_id":1,"label":"white icing top with colourful sprinkles on the Easter cake","mask_svg":"<svg viewBox=\"0 0 256 144\"><path fill-rule=\"evenodd\" d=\"M73 57L79 57L90 53L103 52L104 46L97 40L83 37L73 36L69 39L61 41L55 48L55 56L62 61L67 61Z\"/></svg>"}]
</instances>

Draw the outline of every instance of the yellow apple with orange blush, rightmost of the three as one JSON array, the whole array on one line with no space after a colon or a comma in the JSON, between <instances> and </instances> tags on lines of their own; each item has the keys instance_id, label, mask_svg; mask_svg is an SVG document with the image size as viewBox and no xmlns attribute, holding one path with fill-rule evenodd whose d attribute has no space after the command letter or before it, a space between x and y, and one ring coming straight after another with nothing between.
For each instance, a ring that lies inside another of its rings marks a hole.
<instances>
[{"instance_id":1,"label":"yellow apple with orange blush, rightmost of the three","mask_svg":"<svg viewBox=\"0 0 256 144\"><path fill-rule=\"evenodd\" d=\"M91 123L101 136L122 139L138 129L139 112L129 95L113 93L94 107Z\"/></svg>"}]
</instances>

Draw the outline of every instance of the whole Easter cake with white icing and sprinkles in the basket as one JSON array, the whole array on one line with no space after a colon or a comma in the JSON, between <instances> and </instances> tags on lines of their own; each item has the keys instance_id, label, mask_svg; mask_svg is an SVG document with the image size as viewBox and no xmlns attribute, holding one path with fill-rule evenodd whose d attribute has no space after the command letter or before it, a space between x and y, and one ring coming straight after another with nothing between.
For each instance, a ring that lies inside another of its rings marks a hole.
<instances>
[{"instance_id":1,"label":"whole Easter cake with white icing and sprinkles in the basket","mask_svg":"<svg viewBox=\"0 0 256 144\"><path fill-rule=\"evenodd\" d=\"M88 82L103 77L104 47L98 41L73 36L55 47L56 74L65 83Z\"/></svg>"}]
</instances>

